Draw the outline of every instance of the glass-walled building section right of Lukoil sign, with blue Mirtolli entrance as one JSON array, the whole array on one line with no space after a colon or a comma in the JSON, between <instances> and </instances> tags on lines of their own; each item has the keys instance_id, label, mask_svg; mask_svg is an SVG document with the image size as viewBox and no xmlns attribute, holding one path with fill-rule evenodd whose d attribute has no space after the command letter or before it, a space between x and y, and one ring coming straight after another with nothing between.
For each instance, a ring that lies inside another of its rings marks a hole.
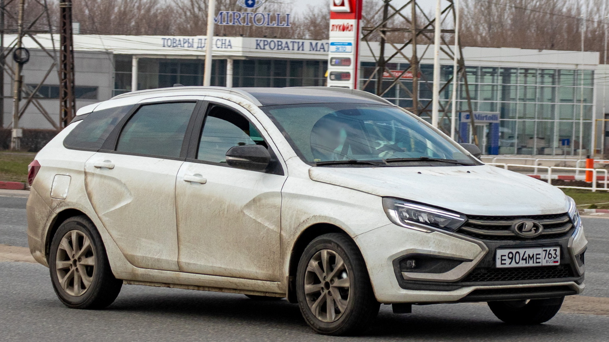
<instances>
[{"instance_id":1,"label":"glass-walled building section right of Lukoil sign, with blue Mirtolli entrance","mask_svg":"<svg viewBox=\"0 0 609 342\"><path fill-rule=\"evenodd\" d=\"M405 52L408 55L408 52ZM513 48L465 47L463 55L474 112L499 114L496 130L493 124L477 125L477 138L483 153L509 155L582 155L591 152L594 143L595 90L604 79L595 81L599 55L597 52L537 51ZM432 62L431 56L425 61ZM442 80L452 77L452 63L443 60ZM403 71L407 63L390 63L387 68ZM361 84L373 92L376 86L375 63L362 63ZM421 79L433 79L433 65L421 65ZM386 75L387 86L392 78ZM401 80L384 95L403 107L412 107L412 80ZM419 99L425 106L431 102L431 83L420 83ZM386 86L384 87L386 88ZM443 106L452 97L452 85L440 96ZM457 88L457 108L468 110L464 82ZM602 100L602 99L599 99ZM431 108L431 106L430 106ZM448 108L450 106L448 105ZM601 108L599 108L601 109ZM442 113L441 113L442 114ZM426 116L426 113L421 116ZM450 116L450 114L448 114ZM441 120L450 127L448 117ZM580 126L582 127L580 130ZM459 138L471 142L473 134L468 123L461 125ZM600 125L597 129L601 134ZM597 141L596 149L603 143Z\"/></svg>"}]
</instances>

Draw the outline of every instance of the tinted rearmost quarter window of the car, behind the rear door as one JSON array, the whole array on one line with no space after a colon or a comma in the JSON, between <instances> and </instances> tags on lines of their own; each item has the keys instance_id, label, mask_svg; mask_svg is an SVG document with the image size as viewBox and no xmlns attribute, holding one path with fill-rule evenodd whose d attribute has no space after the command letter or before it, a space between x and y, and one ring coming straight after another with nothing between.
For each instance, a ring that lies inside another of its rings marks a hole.
<instances>
[{"instance_id":1,"label":"tinted rearmost quarter window of the car, behind the rear door","mask_svg":"<svg viewBox=\"0 0 609 342\"><path fill-rule=\"evenodd\" d=\"M133 106L120 106L108 108L107 110L94 111L83 119L63 139L63 145L67 148L78 150L99 150L110 132L116 127Z\"/></svg>"}]
</instances>

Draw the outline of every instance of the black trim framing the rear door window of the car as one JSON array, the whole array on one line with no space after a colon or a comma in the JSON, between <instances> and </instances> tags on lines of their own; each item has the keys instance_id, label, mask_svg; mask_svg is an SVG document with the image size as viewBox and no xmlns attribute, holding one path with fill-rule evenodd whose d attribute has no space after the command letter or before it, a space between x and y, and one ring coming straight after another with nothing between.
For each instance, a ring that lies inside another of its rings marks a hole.
<instances>
[{"instance_id":1,"label":"black trim framing the rear door window of the car","mask_svg":"<svg viewBox=\"0 0 609 342\"><path fill-rule=\"evenodd\" d=\"M127 115L125 115L121 119L121 121L118 124L116 124L116 127L114 127L114 130L111 131L110 135L108 135L108 138L104 141L104 144L102 144L102 147L97 152L113 153L113 154L117 154L117 155L142 156L142 157L151 157L151 158L159 158L159 159L171 159L171 160L177 160L177 161L185 161L186 153L188 151L188 145L191 141L192 128L193 128L196 118L199 116L200 107L203 105L203 102L204 101L202 101L202 100L183 99L183 100L165 100L165 101L158 101L158 102L136 103L136 105L134 105L133 108L131 108L131 110L127 113ZM172 157L172 156L149 155L149 154L145 154L145 153L132 153L132 152L117 151L116 147L118 145L118 138L121 136L123 128L125 127L125 125L127 125L127 122L133 117L133 115L135 113L137 113L139 108L141 108L142 106L147 106L147 105L161 105L163 103L196 103L194 106L194 109L192 110L191 117L188 121L188 126L186 127L186 132L184 134L184 139L182 141L182 147L180 149L180 156Z\"/></svg>"}]
</instances>

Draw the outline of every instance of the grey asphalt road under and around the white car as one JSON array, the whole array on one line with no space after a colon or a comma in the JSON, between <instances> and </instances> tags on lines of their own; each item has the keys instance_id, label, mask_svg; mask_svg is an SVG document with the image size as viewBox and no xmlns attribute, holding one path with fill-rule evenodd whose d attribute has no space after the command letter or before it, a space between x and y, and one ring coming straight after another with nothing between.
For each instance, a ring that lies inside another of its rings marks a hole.
<instances>
[{"instance_id":1,"label":"grey asphalt road under and around the white car","mask_svg":"<svg viewBox=\"0 0 609 342\"><path fill-rule=\"evenodd\" d=\"M25 198L0 197L0 244L27 246ZM583 295L609 297L609 220L584 218L590 241ZM541 326L501 323L483 304L382 305L359 341L608 341L609 316L558 313ZM124 285L108 309L72 310L55 297L48 269L0 262L0 341L331 341L297 305L242 295ZM340 338L353 340L353 338Z\"/></svg>"}]
</instances>

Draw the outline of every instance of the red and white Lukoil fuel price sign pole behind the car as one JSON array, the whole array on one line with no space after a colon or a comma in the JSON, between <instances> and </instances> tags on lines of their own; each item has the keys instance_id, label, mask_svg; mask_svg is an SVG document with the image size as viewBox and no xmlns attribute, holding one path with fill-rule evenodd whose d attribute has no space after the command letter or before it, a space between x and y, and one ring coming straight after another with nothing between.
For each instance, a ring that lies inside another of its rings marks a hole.
<instances>
[{"instance_id":1,"label":"red and white Lukoil fuel price sign pole behind the car","mask_svg":"<svg viewBox=\"0 0 609 342\"><path fill-rule=\"evenodd\" d=\"M357 89L362 0L330 0L328 86Z\"/></svg>"}]
</instances>

